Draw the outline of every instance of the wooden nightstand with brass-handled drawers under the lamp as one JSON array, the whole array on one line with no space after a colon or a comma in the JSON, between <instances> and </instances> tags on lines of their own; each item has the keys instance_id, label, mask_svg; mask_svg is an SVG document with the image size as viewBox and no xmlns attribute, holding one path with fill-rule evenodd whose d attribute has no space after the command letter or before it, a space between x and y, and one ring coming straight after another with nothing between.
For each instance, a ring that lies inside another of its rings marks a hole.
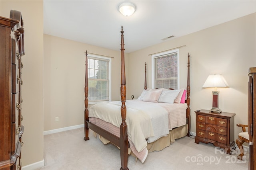
<instances>
[{"instance_id":1,"label":"wooden nightstand with brass-handled drawers under the lamp","mask_svg":"<svg viewBox=\"0 0 256 170\"><path fill-rule=\"evenodd\" d=\"M230 153L234 141L234 116L235 113L212 113L209 110L195 111L196 137L195 143L212 143L216 147L225 149Z\"/></svg>"}]
</instances>

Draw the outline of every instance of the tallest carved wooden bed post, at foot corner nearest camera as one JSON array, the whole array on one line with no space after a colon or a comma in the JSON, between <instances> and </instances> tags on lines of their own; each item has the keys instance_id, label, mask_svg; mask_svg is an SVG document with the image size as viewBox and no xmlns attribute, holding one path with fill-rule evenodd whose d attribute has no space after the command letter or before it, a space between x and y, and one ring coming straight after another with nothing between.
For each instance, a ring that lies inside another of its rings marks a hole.
<instances>
[{"instance_id":1,"label":"tallest carved wooden bed post, at foot corner nearest camera","mask_svg":"<svg viewBox=\"0 0 256 170\"><path fill-rule=\"evenodd\" d=\"M125 81L125 67L124 67L124 31L123 26L121 30L121 117L122 123L120 125L120 156L121 168L120 170L128 170L128 134L126 124L126 81Z\"/></svg>"}]
</instances>

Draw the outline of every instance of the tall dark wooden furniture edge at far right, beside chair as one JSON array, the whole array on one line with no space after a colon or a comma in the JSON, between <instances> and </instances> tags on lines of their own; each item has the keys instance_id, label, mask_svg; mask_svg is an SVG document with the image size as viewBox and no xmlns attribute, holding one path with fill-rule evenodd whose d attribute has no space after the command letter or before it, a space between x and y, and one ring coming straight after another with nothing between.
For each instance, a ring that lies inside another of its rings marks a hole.
<instances>
[{"instance_id":1,"label":"tall dark wooden furniture edge at far right, beside chair","mask_svg":"<svg viewBox=\"0 0 256 170\"><path fill-rule=\"evenodd\" d=\"M248 133L249 170L256 169L256 67L249 69L248 81ZM254 144L255 141L255 144Z\"/></svg>"}]
</instances>

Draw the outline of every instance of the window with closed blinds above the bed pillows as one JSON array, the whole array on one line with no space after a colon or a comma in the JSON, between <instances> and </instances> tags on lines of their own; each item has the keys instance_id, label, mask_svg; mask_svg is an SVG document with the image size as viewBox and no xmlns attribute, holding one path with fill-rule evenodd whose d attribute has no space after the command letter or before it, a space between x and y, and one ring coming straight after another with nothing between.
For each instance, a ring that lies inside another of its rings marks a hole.
<instances>
[{"instance_id":1,"label":"window with closed blinds above the bed pillows","mask_svg":"<svg viewBox=\"0 0 256 170\"><path fill-rule=\"evenodd\" d=\"M178 89L179 49L152 55L152 88Z\"/></svg>"}]
</instances>

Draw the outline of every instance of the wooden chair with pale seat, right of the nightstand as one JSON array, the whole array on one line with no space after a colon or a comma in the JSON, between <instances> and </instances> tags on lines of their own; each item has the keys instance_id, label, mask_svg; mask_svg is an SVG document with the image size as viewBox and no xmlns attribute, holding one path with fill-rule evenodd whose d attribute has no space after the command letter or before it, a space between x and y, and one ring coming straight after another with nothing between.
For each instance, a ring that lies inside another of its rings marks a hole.
<instances>
[{"instance_id":1,"label":"wooden chair with pale seat, right of the nightstand","mask_svg":"<svg viewBox=\"0 0 256 170\"><path fill-rule=\"evenodd\" d=\"M248 125L240 125L240 124L236 124L238 127L242 127L242 132L240 132L238 134L238 139L236 139L236 145L238 146L238 148L240 149L240 154L237 156L238 159L242 160L243 156L244 156L244 147L243 147L243 143L249 143L249 134L248 132L246 132L246 127L248 127Z\"/></svg>"}]
</instances>

